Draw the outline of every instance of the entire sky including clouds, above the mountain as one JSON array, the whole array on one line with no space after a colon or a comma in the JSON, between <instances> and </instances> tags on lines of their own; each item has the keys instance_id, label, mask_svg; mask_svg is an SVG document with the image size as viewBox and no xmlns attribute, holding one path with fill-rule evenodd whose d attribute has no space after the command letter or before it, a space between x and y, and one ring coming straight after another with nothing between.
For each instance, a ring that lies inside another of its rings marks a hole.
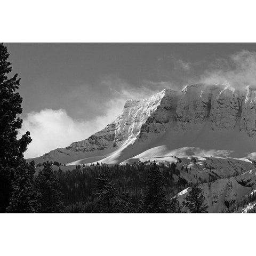
<instances>
[{"instance_id":1,"label":"entire sky including clouds, above the mountain","mask_svg":"<svg viewBox=\"0 0 256 256\"><path fill-rule=\"evenodd\" d=\"M149 97L165 87L180 90L201 81L243 85L256 81L256 44L5 45L13 72L21 77L21 133L29 130L33 138L27 157L68 146L103 129L129 98Z\"/></svg>"}]
</instances>

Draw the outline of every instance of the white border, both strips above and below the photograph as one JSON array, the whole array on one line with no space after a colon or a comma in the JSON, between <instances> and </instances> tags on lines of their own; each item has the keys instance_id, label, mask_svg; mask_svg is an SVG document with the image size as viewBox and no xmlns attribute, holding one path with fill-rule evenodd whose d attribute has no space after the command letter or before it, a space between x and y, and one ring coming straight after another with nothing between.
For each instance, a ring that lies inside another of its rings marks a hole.
<instances>
[{"instance_id":1,"label":"white border, both strips above and below the photograph","mask_svg":"<svg viewBox=\"0 0 256 256\"><path fill-rule=\"evenodd\" d=\"M253 1L1 1L2 42L256 42ZM2 255L242 255L254 214L0 214Z\"/></svg>"}]
</instances>

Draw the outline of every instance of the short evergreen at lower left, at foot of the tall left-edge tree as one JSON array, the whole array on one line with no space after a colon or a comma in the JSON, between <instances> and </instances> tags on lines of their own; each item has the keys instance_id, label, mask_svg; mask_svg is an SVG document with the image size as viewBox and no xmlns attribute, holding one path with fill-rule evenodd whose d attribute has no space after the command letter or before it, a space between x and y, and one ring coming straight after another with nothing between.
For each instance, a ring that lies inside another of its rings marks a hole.
<instances>
[{"instance_id":1,"label":"short evergreen at lower left, at foot of the tall left-edge tree","mask_svg":"<svg viewBox=\"0 0 256 256\"><path fill-rule=\"evenodd\" d=\"M33 188L35 174L35 163L22 164L14 172L12 182L12 195L7 212L37 212L40 205L37 202L38 193Z\"/></svg>"}]
</instances>

